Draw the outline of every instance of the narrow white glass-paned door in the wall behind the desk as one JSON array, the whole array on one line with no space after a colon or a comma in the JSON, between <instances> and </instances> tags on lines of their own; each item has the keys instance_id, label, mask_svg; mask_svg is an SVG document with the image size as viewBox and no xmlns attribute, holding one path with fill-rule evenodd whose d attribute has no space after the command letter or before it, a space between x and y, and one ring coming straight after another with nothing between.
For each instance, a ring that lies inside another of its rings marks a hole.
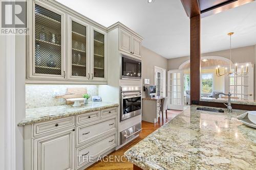
<instances>
[{"instance_id":1,"label":"narrow white glass-paned door in the wall behind the desk","mask_svg":"<svg viewBox=\"0 0 256 170\"><path fill-rule=\"evenodd\" d=\"M166 70L155 66L155 86L157 96L165 97L166 91Z\"/></svg>"}]
</instances>

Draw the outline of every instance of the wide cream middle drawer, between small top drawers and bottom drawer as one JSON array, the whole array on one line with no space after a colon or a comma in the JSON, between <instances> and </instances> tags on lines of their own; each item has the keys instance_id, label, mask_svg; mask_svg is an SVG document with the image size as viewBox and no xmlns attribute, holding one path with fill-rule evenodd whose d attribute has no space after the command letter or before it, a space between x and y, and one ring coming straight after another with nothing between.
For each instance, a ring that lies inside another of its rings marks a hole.
<instances>
[{"instance_id":1,"label":"wide cream middle drawer, between small top drawers and bottom drawer","mask_svg":"<svg viewBox=\"0 0 256 170\"><path fill-rule=\"evenodd\" d=\"M77 145L87 141L97 135L103 134L106 131L116 128L116 118L105 120L104 122L94 125L86 125L78 127Z\"/></svg>"}]
</instances>

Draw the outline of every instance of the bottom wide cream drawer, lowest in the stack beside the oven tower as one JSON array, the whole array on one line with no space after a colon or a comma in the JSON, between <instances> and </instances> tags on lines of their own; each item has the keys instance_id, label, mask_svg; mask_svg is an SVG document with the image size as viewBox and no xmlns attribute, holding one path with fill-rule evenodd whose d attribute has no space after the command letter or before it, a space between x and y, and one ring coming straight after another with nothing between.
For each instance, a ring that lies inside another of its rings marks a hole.
<instances>
[{"instance_id":1,"label":"bottom wide cream drawer, lowest in the stack beside the oven tower","mask_svg":"<svg viewBox=\"0 0 256 170\"><path fill-rule=\"evenodd\" d=\"M91 145L78 148L76 150L76 168L93 161L95 158L97 159L98 156L108 152L114 147L116 147L116 134L105 137Z\"/></svg>"}]
</instances>

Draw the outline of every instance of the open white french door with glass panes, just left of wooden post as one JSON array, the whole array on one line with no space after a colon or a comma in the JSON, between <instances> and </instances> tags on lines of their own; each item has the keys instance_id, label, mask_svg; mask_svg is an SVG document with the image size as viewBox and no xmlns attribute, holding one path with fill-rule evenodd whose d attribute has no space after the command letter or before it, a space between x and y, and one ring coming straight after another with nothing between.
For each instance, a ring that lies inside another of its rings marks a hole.
<instances>
[{"instance_id":1,"label":"open white french door with glass panes, just left of wooden post","mask_svg":"<svg viewBox=\"0 0 256 170\"><path fill-rule=\"evenodd\" d=\"M184 72L169 70L167 74L168 109L184 110Z\"/></svg>"}]
</instances>

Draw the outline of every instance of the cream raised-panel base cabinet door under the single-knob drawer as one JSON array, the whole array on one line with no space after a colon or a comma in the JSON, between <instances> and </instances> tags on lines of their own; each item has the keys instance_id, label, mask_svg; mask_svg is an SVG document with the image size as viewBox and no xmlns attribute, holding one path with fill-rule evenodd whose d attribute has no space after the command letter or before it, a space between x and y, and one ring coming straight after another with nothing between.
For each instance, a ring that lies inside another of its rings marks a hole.
<instances>
[{"instance_id":1,"label":"cream raised-panel base cabinet door under the single-knob drawer","mask_svg":"<svg viewBox=\"0 0 256 170\"><path fill-rule=\"evenodd\" d=\"M73 129L33 139L34 170L74 169Z\"/></svg>"}]
</instances>

